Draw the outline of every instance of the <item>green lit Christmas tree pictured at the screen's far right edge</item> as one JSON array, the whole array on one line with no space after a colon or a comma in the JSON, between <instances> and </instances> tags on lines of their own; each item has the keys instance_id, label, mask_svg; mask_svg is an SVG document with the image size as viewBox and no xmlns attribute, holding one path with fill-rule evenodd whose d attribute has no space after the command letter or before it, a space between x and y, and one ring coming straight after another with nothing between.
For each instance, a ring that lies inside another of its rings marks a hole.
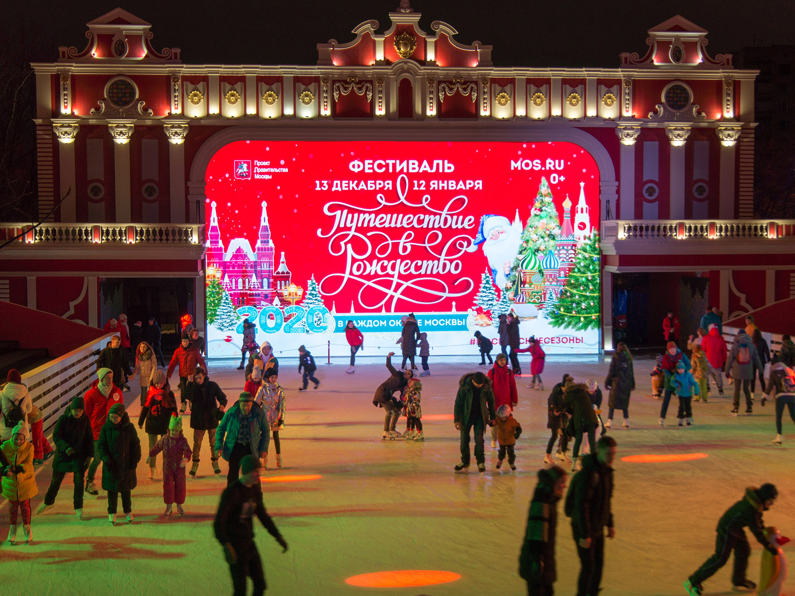
<instances>
[{"instance_id":1,"label":"green lit Christmas tree pictured at the screen's far right edge","mask_svg":"<svg viewBox=\"0 0 795 596\"><path fill-rule=\"evenodd\" d=\"M575 331L599 329L599 234L595 231L577 249L568 282L554 304L545 308L553 327Z\"/></svg>"}]
</instances>

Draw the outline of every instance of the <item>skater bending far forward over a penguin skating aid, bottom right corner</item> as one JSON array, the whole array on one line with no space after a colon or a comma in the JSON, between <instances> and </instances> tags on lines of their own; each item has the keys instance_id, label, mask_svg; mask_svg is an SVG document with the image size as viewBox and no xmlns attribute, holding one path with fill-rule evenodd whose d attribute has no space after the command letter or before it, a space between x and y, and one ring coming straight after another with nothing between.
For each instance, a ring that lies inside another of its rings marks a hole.
<instances>
[{"instance_id":1,"label":"skater bending far forward over a penguin skating aid, bottom right corner","mask_svg":"<svg viewBox=\"0 0 795 596\"><path fill-rule=\"evenodd\" d=\"M773 484L763 484L758 488L750 486L746 489L743 498L731 505L726 513L723 513L723 517L718 522L715 554L704 561L688 579L684 580L684 589L688 590L688 594L700 596L704 590L701 582L715 575L715 572L726 564L731 551L735 551L735 566L731 576L734 589L754 590L756 588L756 584L746 578L750 544L748 544L745 528L751 531L754 538L771 555L778 555L778 547L771 544L763 532L765 522L762 520L762 512L773 506L776 497L778 497L778 490Z\"/></svg>"}]
</instances>

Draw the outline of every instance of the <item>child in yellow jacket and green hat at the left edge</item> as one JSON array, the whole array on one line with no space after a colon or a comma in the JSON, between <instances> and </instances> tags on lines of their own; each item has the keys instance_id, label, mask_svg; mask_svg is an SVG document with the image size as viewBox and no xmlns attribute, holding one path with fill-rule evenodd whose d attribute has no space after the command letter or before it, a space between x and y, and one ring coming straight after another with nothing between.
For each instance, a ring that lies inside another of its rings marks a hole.
<instances>
[{"instance_id":1,"label":"child in yellow jacket and green hat at the left edge","mask_svg":"<svg viewBox=\"0 0 795 596\"><path fill-rule=\"evenodd\" d=\"M26 439L25 423L18 422L11 438L2 443L2 452L9 462L2 477L2 496L8 499L8 543L17 540L17 510L22 511L22 530L25 542L33 543L30 531L30 499L39 493L33 475L33 444Z\"/></svg>"}]
</instances>

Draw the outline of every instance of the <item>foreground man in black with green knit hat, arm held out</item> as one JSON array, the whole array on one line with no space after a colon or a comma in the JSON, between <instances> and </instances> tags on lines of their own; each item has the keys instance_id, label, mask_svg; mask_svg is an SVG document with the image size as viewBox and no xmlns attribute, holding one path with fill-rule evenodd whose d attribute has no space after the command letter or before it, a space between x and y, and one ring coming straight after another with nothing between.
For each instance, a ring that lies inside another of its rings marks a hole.
<instances>
[{"instance_id":1,"label":"foreground man in black with green knit hat, arm held out","mask_svg":"<svg viewBox=\"0 0 795 596\"><path fill-rule=\"evenodd\" d=\"M282 552L287 552L287 541L281 536L262 501L258 458L251 454L244 456L240 468L242 477L227 486L221 494L213 529L229 563L235 594L246 594L249 576L254 582L254 594L264 594L265 574L257 544L254 543L254 515L281 544Z\"/></svg>"}]
</instances>

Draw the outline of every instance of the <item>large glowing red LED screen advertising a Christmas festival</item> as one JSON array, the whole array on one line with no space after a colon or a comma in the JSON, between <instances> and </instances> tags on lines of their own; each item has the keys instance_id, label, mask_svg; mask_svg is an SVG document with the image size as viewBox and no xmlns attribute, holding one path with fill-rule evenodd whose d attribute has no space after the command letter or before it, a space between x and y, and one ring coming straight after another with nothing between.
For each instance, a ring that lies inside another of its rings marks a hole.
<instances>
[{"instance_id":1,"label":"large glowing red LED screen advertising a Christmas festival","mask_svg":"<svg viewBox=\"0 0 795 596\"><path fill-rule=\"evenodd\" d=\"M599 350L599 172L566 142L237 141L207 168L207 345L316 357L396 345L499 350L498 316L547 354Z\"/></svg>"}]
</instances>

